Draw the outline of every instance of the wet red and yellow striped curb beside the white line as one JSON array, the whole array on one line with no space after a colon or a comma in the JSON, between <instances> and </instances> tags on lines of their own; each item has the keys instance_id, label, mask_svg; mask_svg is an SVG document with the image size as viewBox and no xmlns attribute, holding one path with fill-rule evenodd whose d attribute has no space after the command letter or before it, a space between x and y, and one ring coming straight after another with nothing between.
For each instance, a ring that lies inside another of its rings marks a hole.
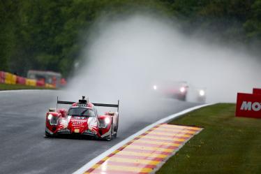
<instances>
[{"instance_id":1,"label":"wet red and yellow striped curb beside the white line","mask_svg":"<svg viewBox=\"0 0 261 174\"><path fill-rule=\"evenodd\" d=\"M158 124L98 161L85 174L149 174L201 130Z\"/></svg>"}]
</instances>

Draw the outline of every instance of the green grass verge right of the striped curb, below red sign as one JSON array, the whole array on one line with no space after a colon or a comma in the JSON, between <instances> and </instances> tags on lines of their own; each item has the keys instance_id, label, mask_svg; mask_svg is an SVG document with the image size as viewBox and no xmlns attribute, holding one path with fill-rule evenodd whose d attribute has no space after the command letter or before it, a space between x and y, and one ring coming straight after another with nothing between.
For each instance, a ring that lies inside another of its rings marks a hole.
<instances>
[{"instance_id":1,"label":"green grass verge right of the striped curb, below red sign","mask_svg":"<svg viewBox=\"0 0 261 174\"><path fill-rule=\"evenodd\" d=\"M261 119L234 117L235 105L195 110L170 124L203 126L157 171L161 173L261 173Z\"/></svg>"}]
</instances>

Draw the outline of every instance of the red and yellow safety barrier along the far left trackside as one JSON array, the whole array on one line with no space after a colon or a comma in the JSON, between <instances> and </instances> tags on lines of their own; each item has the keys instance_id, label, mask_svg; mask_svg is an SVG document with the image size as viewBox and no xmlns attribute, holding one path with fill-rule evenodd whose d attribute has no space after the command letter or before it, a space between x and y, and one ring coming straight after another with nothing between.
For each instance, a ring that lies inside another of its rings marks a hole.
<instances>
[{"instance_id":1,"label":"red and yellow safety barrier along the far left trackside","mask_svg":"<svg viewBox=\"0 0 261 174\"><path fill-rule=\"evenodd\" d=\"M24 78L13 73L8 73L4 71L0 71L0 83L11 84L11 85L27 85L33 87L49 87L55 88L54 85L45 83L45 80L35 80Z\"/></svg>"}]
</instances>

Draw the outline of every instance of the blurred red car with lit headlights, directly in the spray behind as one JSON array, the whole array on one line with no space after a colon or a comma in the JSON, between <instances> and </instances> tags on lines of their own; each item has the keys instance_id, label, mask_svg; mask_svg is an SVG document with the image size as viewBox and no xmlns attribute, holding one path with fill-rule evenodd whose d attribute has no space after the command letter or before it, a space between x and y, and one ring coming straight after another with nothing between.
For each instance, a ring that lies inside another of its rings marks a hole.
<instances>
[{"instance_id":1,"label":"blurred red car with lit headlights, directly in the spray behind","mask_svg":"<svg viewBox=\"0 0 261 174\"><path fill-rule=\"evenodd\" d=\"M164 81L154 83L152 89L156 94L167 98L186 101L188 94L188 83L185 81Z\"/></svg>"}]
</instances>

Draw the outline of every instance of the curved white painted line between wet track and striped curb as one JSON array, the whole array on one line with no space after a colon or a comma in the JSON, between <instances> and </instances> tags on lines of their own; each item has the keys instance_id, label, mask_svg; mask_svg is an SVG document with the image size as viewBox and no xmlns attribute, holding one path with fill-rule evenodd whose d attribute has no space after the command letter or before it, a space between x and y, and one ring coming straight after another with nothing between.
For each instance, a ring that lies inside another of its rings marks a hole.
<instances>
[{"instance_id":1,"label":"curved white painted line between wet track and striped curb","mask_svg":"<svg viewBox=\"0 0 261 174\"><path fill-rule=\"evenodd\" d=\"M73 174L82 174L85 171L88 171L89 168L91 168L92 166L94 166L94 164L98 163L98 161L100 161L101 159L107 157L109 154L111 154L112 152L114 152L115 150L119 149L119 147L125 145L126 143L128 143L130 140L133 140L133 138L140 136L142 133L148 131L149 129L153 128L154 126L161 124L161 123L165 123L170 121L171 119L176 119L178 117L180 117L181 115L184 115L186 113L189 113L193 110L197 110L199 108L203 108L205 106L210 106L213 104L204 104L204 105L200 105L200 106L195 106L193 108L188 108L186 110L183 110L179 113L170 115L168 117L165 117L163 119L158 120L158 122L155 122L153 124L150 124L149 126L146 126L144 129L138 131L137 133L134 133L132 136L129 136L128 138L126 138L125 140L121 141L120 143L118 143L117 145L114 145L113 147L111 147L109 150L103 152L102 154L100 154L98 157L91 159L91 161L89 161L87 164L85 164L84 166L82 166L81 168L79 168L77 171L75 171Z\"/></svg>"}]
</instances>

